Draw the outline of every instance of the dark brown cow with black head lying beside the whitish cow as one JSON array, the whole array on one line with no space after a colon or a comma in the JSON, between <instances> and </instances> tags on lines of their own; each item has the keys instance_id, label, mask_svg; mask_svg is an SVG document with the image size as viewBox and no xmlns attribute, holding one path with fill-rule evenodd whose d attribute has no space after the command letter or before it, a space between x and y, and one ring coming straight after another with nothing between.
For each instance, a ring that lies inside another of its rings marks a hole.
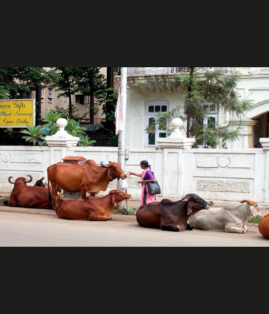
<instances>
[{"instance_id":1,"label":"dark brown cow with black head lying beside the whitish cow","mask_svg":"<svg viewBox=\"0 0 269 314\"><path fill-rule=\"evenodd\" d=\"M196 194L186 194L175 202L164 198L160 202L140 206L136 212L136 221L147 228L166 231L192 230L192 226L187 223L189 216L209 206L208 202Z\"/></svg>"}]
</instances>

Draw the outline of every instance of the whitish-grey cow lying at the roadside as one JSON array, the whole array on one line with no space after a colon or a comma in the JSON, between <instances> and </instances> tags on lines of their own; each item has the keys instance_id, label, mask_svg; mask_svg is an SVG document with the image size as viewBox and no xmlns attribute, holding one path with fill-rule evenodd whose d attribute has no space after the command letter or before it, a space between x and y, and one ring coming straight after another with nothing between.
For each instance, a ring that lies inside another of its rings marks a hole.
<instances>
[{"instance_id":1,"label":"whitish-grey cow lying at the roadside","mask_svg":"<svg viewBox=\"0 0 269 314\"><path fill-rule=\"evenodd\" d=\"M251 199L244 199L239 206L224 206L198 211L190 216L188 223L196 229L245 233L248 231L250 218L261 217L258 204Z\"/></svg>"}]
</instances>

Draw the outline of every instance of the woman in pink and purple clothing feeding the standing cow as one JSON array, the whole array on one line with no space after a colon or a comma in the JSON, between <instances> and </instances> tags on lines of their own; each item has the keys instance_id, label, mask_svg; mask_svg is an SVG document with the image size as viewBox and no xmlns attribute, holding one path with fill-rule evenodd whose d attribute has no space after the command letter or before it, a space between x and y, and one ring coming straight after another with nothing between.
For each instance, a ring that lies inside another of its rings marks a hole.
<instances>
[{"instance_id":1,"label":"woman in pink and purple clothing feeding the standing cow","mask_svg":"<svg viewBox=\"0 0 269 314\"><path fill-rule=\"evenodd\" d=\"M142 193L141 193L141 199L140 199L140 206L145 205L151 202L154 202L156 200L155 194L149 194L148 188L147 188L147 182L155 182L156 179L150 169L150 165L146 160L140 161L140 167L143 169L142 173L134 173L130 172L130 174L134 174L136 176L140 176L141 180L138 181L138 183L142 183Z\"/></svg>"}]
</instances>

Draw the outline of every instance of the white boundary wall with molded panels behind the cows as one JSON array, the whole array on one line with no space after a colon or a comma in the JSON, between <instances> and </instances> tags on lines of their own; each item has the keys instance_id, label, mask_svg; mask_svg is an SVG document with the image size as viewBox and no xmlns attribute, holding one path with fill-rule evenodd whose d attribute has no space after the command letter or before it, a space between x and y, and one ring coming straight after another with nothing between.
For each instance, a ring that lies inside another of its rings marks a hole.
<instances>
[{"instance_id":1,"label":"white boundary wall with molded panels behind the cows","mask_svg":"<svg viewBox=\"0 0 269 314\"><path fill-rule=\"evenodd\" d=\"M269 139L267 140L267 144ZM118 160L117 147L0 146L0 195L11 192L8 177L31 174L34 182L47 178L47 167L66 156L93 159L99 165ZM125 172L141 172L139 163L147 160L161 186L158 198L177 199L187 193L215 201L254 199L269 203L269 151L267 149L178 149L133 148ZM66 178L68 180L68 178ZM137 176L127 178L128 193L139 199L141 185ZM117 188L117 179L107 191Z\"/></svg>"}]
</instances>

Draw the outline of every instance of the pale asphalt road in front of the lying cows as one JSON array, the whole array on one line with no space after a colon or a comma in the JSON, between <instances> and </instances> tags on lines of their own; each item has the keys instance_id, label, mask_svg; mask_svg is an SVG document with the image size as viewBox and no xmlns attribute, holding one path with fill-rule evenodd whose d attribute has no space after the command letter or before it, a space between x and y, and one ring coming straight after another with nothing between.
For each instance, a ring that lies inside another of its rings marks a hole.
<instances>
[{"instance_id":1,"label":"pale asphalt road in front of the lying cows","mask_svg":"<svg viewBox=\"0 0 269 314\"><path fill-rule=\"evenodd\" d=\"M59 218L54 210L0 206L1 247L263 247L257 226L245 234L219 231L171 232L140 227L135 216L108 221Z\"/></svg>"}]
</instances>

